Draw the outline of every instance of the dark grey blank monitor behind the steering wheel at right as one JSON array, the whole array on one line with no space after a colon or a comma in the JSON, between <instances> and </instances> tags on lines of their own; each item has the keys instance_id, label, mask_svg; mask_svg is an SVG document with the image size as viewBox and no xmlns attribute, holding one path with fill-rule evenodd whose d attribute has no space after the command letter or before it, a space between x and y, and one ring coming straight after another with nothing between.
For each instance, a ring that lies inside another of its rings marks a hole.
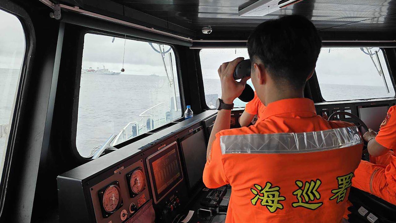
<instances>
[{"instance_id":1,"label":"dark grey blank monitor behind the steering wheel at right","mask_svg":"<svg viewBox=\"0 0 396 223\"><path fill-rule=\"evenodd\" d=\"M373 129L376 132L379 131L379 126L385 119L388 109L387 105L379 107L358 106L360 119L366 123L369 129Z\"/></svg>"}]
</instances>

